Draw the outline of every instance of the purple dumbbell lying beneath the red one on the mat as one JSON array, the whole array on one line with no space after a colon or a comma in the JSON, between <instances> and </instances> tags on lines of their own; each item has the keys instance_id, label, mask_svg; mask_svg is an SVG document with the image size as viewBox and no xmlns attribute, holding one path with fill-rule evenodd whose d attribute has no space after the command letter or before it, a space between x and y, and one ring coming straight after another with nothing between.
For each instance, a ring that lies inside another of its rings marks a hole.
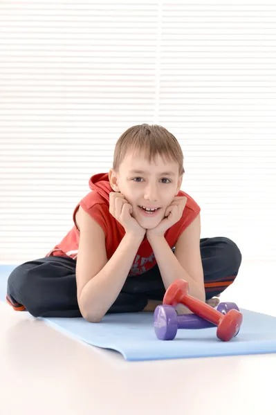
<instances>
[{"instance_id":1,"label":"purple dumbbell lying beneath the red one on the mat","mask_svg":"<svg viewBox=\"0 0 276 415\"><path fill-rule=\"evenodd\" d=\"M217 307L217 311L226 314L232 308L239 311L237 304L222 302ZM204 320L199 315L178 315L173 306L164 304L157 306L154 311L154 331L159 340L174 340L178 329L208 329L211 327L216 327L216 325Z\"/></svg>"}]
</instances>

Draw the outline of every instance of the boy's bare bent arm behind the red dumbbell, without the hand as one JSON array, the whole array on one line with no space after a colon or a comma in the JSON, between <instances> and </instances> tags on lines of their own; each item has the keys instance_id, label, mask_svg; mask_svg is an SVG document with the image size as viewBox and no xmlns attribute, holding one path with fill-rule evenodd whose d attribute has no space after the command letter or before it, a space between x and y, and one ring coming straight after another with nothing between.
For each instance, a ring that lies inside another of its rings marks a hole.
<instances>
[{"instance_id":1,"label":"boy's bare bent arm behind the red dumbbell, without the hand","mask_svg":"<svg viewBox=\"0 0 276 415\"><path fill-rule=\"evenodd\" d=\"M178 278L189 283L189 293L205 302L203 266L200 252L200 214L182 232L174 252L164 236L148 237L165 289Z\"/></svg>"}]
</instances>

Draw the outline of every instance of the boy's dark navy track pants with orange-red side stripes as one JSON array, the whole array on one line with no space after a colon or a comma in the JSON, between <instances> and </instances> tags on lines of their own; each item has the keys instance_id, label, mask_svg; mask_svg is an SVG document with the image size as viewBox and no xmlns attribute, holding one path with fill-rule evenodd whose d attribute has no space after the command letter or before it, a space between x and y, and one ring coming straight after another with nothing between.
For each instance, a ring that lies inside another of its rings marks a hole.
<instances>
[{"instance_id":1,"label":"boy's dark navy track pants with orange-red side stripes","mask_svg":"<svg viewBox=\"0 0 276 415\"><path fill-rule=\"evenodd\" d=\"M241 252L225 237L203 238L200 248L206 299L210 299L234 282ZM16 310L25 307L35 317L80 317L75 266L75 259L53 256L17 266L8 277L7 301ZM165 286L156 264L141 275L129 275L107 313L142 311L147 299L162 300L164 295Z\"/></svg>"}]
</instances>

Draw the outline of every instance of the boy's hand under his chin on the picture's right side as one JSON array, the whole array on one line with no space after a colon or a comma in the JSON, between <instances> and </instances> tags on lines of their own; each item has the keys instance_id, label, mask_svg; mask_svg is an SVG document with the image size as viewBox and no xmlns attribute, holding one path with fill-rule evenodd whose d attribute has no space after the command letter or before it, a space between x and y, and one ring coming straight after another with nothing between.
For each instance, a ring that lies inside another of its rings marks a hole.
<instances>
[{"instance_id":1,"label":"boy's hand under his chin on the picture's right side","mask_svg":"<svg viewBox=\"0 0 276 415\"><path fill-rule=\"evenodd\" d=\"M163 236L167 229L181 219L186 203L186 196L174 196L174 200L165 211L164 219L155 228L147 229L147 237Z\"/></svg>"}]
</instances>

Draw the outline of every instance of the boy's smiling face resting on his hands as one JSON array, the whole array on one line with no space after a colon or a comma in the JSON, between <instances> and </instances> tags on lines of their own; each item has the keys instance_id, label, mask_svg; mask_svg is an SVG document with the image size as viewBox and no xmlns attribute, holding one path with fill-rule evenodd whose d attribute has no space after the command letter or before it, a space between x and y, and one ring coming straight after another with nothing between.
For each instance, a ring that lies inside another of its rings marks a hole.
<instances>
[{"instance_id":1,"label":"boy's smiling face resting on his hands","mask_svg":"<svg viewBox=\"0 0 276 415\"><path fill-rule=\"evenodd\" d=\"M181 188L182 178L178 175L178 163L164 163L159 155L155 163L153 160L149 163L142 152L132 154L129 151L120 164L119 172L109 171L111 187L116 192L120 191L132 205L131 216L145 229L155 228L162 221L166 208ZM145 213L140 206L158 210L153 214Z\"/></svg>"}]
</instances>

